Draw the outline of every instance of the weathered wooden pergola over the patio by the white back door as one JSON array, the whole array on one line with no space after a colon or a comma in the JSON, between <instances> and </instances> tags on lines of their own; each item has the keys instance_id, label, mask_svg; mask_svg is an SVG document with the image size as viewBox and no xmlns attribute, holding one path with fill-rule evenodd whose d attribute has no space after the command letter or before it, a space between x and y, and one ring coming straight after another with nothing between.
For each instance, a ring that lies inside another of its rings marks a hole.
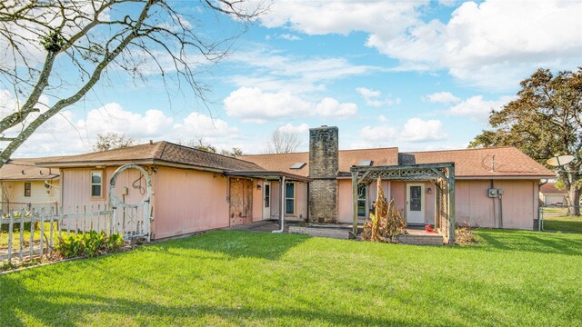
<instances>
[{"instance_id":1,"label":"weathered wooden pergola over the patio by the white back door","mask_svg":"<svg viewBox=\"0 0 582 327\"><path fill-rule=\"evenodd\" d=\"M435 183L437 203L435 229L445 242L455 243L455 163L418 163L387 166L352 166L354 234L357 234L357 185L376 181L418 181Z\"/></svg>"}]
</instances>

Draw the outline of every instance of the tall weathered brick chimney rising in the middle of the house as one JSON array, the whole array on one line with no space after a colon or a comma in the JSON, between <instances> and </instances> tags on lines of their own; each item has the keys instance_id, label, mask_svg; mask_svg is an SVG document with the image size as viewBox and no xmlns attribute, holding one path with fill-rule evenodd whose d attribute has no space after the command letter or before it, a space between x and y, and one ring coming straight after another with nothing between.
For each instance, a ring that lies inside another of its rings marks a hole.
<instances>
[{"instance_id":1,"label":"tall weathered brick chimney rising in the middle of the house","mask_svg":"<svg viewBox=\"0 0 582 327\"><path fill-rule=\"evenodd\" d=\"M337 223L337 127L309 129L309 221Z\"/></svg>"}]
</instances>

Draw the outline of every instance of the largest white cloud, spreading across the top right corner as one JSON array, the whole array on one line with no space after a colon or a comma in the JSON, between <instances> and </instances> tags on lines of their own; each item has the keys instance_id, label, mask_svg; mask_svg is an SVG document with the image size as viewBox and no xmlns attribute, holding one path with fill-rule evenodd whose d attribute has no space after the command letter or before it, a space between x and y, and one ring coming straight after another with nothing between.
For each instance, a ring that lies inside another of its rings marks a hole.
<instances>
[{"instance_id":1,"label":"largest white cloud, spreading across the top right corner","mask_svg":"<svg viewBox=\"0 0 582 327\"><path fill-rule=\"evenodd\" d=\"M260 19L266 27L306 35L364 32L367 46L397 59L403 70L445 69L490 89L515 88L538 67L576 69L579 64L579 1L466 1L448 21L423 20L431 6L428 1L288 0L276 2Z\"/></svg>"}]
</instances>

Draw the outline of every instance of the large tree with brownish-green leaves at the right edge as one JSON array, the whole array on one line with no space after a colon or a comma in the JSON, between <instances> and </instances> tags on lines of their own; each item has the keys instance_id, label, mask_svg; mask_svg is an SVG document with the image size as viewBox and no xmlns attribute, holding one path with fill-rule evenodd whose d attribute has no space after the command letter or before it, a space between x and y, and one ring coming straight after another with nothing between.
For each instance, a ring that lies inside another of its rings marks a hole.
<instances>
[{"instance_id":1,"label":"large tree with brownish-green leaves at the right edge","mask_svg":"<svg viewBox=\"0 0 582 327\"><path fill-rule=\"evenodd\" d=\"M556 154L571 154L572 163L557 170L568 190L568 202L578 206L582 186L582 67L552 74L538 69L521 82L517 99L489 116L491 130L477 135L469 147L513 145L538 163ZM580 215L579 208L574 214Z\"/></svg>"}]
</instances>

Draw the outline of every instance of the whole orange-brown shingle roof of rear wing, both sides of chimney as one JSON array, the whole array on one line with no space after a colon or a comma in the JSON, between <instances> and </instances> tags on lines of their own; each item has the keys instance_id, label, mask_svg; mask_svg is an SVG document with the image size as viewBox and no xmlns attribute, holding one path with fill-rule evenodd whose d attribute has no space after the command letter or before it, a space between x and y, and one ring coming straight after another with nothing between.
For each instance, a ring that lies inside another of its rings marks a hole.
<instances>
[{"instance_id":1,"label":"whole orange-brown shingle roof of rear wing, both sides of chimney","mask_svg":"<svg viewBox=\"0 0 582 327\"><path fill-rule=\"evenodd\" d=\"M495 169L493 156L495 155ZM340 150L338 175L348 175L349 168L362 160L371 160L372 166L455 163L455 175L460 178L550 178L556 174L531 159L513 146L486 149L398 153L398 148ZM307 176L309 153L256 154L241 157L270 171L282 171ZM291 169L294 163L307 163L301 169Z\"/></svg>"}]
</instances>

